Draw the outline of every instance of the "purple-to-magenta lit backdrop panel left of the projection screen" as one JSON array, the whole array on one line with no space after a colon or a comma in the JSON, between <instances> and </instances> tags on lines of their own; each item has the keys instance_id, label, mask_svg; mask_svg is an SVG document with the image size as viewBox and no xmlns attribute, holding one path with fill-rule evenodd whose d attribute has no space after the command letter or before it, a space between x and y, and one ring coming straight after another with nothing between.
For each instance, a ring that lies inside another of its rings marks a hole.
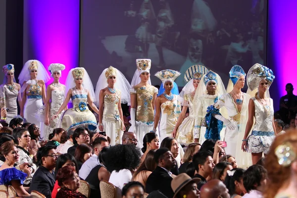
<instances>
[{"instance_id":1,"label":"purple-to-magenta lit backdrop panel left of the projection screen","mask_svg":"<svg viewBox=\"0 0 297 198\"><path fill-rule=\"evenodd\" d=\"M40 60L46 68L64 64L64 84L69 70L79 65L80 0L25 0L24 9L32 50L28 58Z\"/></svg>"}]
</instances>

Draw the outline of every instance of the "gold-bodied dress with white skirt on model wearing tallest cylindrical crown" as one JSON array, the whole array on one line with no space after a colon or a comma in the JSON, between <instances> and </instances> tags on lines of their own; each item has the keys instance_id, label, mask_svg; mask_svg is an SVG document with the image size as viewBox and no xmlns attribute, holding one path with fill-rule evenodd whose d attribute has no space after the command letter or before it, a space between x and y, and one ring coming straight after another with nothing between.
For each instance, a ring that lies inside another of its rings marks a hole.
<instances>
[{"instance_id":1,"label":"gold-bodied dress with white skirt on model wearing tallest cylindrical crown","mask_svg":"<svg viewBox=\"0 0 297 198\"><path fill-rule=\"evenodd\" d=\"M154 86L130 89L130 94L136 95L135 133L139 145L143 145L144 136L153 129L154 109L152 99L153 95L157 93L158 89Z\"/></svg>"}]
</instances>

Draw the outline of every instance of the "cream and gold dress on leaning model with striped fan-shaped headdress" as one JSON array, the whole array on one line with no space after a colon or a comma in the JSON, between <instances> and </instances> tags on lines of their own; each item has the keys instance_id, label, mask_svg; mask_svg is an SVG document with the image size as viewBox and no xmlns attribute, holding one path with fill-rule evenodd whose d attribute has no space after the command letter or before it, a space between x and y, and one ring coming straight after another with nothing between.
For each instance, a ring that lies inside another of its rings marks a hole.
<instances>
[{"instance_id":1,"label":"cream and gold dress on leaning model with striped fan-shaped headdress","mask_svg":"<svg viewBox=\"0 0 297 198\"><path fill-rule=\"evenodd\" d=\"M183 120L177 129L176 140L181 145L188 146L189 144L194 143L195 113L193 109L193 100L194 97L190 94L184 95L184 101L187 101L187 104L184 106L187 105L189 107L189 116Z\"/></svg>"}]
</instances>

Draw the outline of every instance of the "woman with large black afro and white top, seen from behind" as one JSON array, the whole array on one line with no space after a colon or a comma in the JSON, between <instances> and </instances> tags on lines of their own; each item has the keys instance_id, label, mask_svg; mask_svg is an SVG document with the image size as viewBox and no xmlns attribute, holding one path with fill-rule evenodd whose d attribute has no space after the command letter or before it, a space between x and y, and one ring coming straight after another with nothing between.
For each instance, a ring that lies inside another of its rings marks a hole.
<instances>
[{"instance_id":1,"label":"woman with large black afro and white top, seen from behind","mask_svg":"<svg viewBox=\"0 0 297 198\"><path fill-rule=\"evenodd\" d=\"M135 145L116 145L109 148L107 155L105 165L111 172L109 182L122 190L140 164L140 150Z\"/></svg>"}]
</instances>

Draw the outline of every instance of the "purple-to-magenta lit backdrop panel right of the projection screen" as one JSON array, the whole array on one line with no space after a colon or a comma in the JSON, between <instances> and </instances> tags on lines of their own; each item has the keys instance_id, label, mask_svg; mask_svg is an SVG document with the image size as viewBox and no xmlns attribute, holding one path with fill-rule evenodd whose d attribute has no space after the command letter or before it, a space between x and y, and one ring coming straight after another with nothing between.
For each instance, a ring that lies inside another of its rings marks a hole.
<instances>
[{"instance_id":1,"label":"purple-to-magenta lit backdrop panel right of the projection screen","mask_svg":"<svg viewBox=\"0 0 297 198\"><path fill-rule=\"evenodd\" d=\"M297 90L297 0L268 1L268 51L272 53L268 67L272 68L280 96L287 94L285 86L292 83ZM296 94L296 93L295 93ZM278 104L278 102L277 102Z\"/></svg>"}]
</instances>

